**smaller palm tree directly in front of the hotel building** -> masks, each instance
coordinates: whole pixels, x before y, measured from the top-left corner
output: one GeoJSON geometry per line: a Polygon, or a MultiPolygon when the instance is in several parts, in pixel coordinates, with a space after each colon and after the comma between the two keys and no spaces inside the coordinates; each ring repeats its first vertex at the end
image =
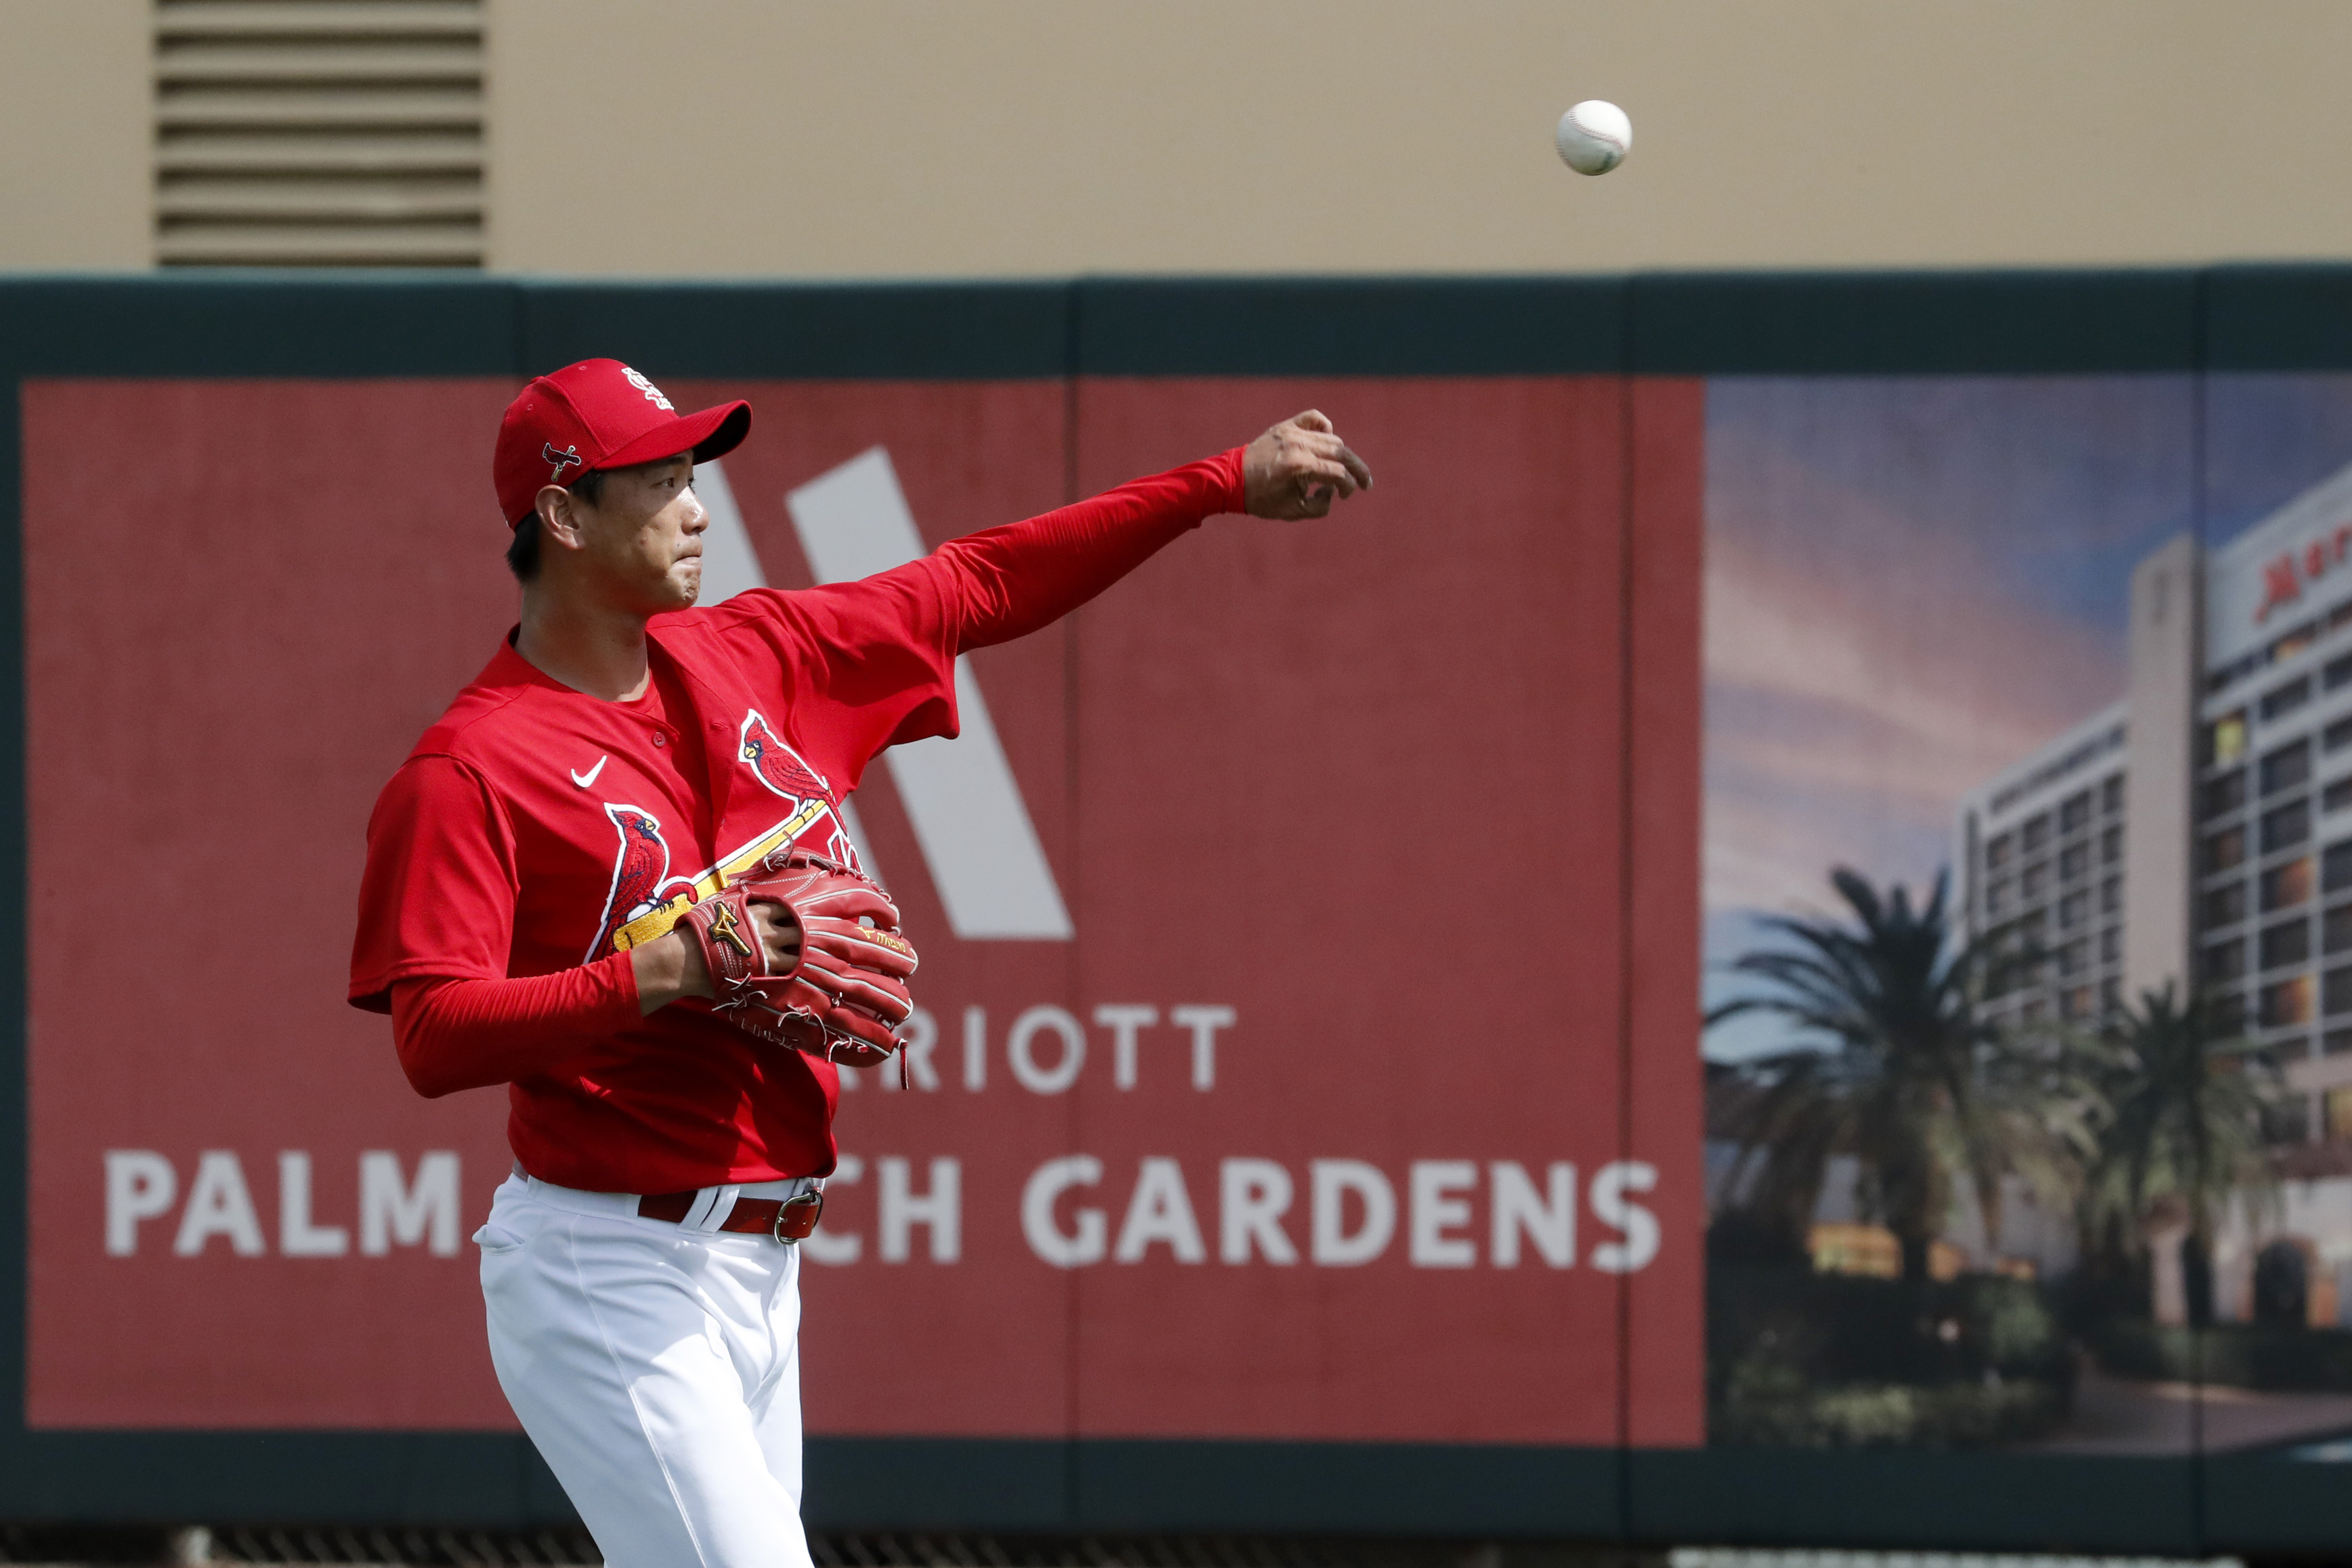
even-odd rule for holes
{"type": "Polygon", "coordinates": [[[2084,1253],[2138,1258],[2150,1211],[2166,1206],[2211,1255],[2230,1197],[2263,1201],[2277,1187],[2263,1138],[2277,1067],[2225,1027],[2211,997],[2183,999],[2171,983],[2140,992],[2110,1039],[2110,1121],[2082,1194],[2084,1253]]]}

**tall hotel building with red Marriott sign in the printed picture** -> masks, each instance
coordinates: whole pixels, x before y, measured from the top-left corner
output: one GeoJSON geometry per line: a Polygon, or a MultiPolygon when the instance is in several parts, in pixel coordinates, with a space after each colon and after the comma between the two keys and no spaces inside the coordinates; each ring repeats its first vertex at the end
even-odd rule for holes
{"type": "Polygon", "coordinates": [[[2194,980],[2279,1065],[2284,1204],[2232,1211],[2213,1260],[2244,1316],[2277,1237],[2352,1276],[2352,465],[2218,550],[2147,555],[2129,649],[2124,701],[1962,799],[1959,929],[2046,954],[1994,1023],[2194,980]]]}

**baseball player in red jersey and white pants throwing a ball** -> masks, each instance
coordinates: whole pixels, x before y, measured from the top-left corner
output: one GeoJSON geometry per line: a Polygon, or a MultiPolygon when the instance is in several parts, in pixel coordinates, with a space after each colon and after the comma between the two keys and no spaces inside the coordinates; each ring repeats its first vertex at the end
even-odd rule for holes
{"type": "Polygon", "coordinates": [[[614,360],[532,381],[494,475],[522,621],[367,825],[350,1001],[423,1095],[506,1084],[492,1363],[619,1568],[809,1568],[800,1255],[837,1060],[880,1060],[913,943],[842,799],[955,733],[955,656],[1040,630],[1218,512],[1371,484],[1322,414],[861,583],[694,609],[694,463],[614,360]]]}

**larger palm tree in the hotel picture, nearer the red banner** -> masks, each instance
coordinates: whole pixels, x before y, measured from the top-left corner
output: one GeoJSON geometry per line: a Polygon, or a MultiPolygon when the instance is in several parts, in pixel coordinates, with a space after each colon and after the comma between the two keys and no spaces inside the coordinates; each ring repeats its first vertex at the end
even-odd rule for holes
{"type": "Polygon", "coordinates": [[[1736,1067],[1724,1103],[1740,1152],[1724,1192],[1804,1237],[1830,1159],[1851,1154],[1865,1213],[1893,1232],[1903,1276],[1924,1281],[1955,1180],[1973,1187],[1997,1244],[2002,1178],[2065,1187],[2098,1100],[2063,1037],[2016,1041],[1978,1016],[1983,985],[2011,959],[1990,938],[1955,940],[1945,875],[1917,907],[1903,886],[1882,896],[1846,867],[1830,882],[1851,922],[1766,919],[1785,945],[1731,964],[1766,990],[1708,1013],[1710,1025],[1769,1013],[1809,1037],[1736,1067]]]}

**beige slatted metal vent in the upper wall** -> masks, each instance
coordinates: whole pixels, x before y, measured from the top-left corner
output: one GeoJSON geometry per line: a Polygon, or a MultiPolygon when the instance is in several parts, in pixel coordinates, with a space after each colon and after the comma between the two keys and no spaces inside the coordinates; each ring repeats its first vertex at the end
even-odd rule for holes
{"type": "Polygon", "coordinates": [[[160,266],[482,266],[482,0],[155,0],[160,266]]]}

